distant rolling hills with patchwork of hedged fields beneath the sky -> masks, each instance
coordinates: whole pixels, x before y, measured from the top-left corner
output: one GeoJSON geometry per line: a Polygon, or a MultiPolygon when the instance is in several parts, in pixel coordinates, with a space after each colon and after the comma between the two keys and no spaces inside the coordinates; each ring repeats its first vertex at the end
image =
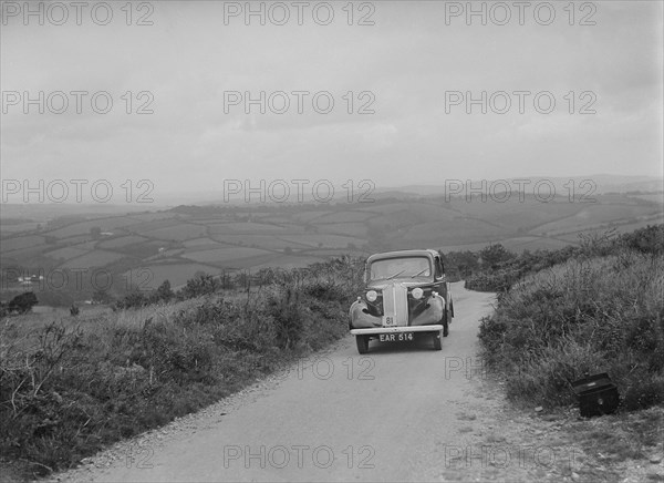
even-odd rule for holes
{"type": "Polygon", "coordinates": [[[664,210],[655,202],[661,196],[594,195],[595,203],[512,196],[497,203],[395,192],[370,204],[205,205],[116,214],[76,207],[75,215],[62,217],[40,206],[34,218],[28,206],[12,207],[12,218],[0,217],[0,265],[32,271],[96,267],[116,275],[143,268],[151,276],[142,284],[154,288],[166,279],[183,285],[200,271],[302,267],[350,253],[479,250],[492,243],[513,251],[556,249],[579,244],[581,233],[662,223],[664,210]]]}

